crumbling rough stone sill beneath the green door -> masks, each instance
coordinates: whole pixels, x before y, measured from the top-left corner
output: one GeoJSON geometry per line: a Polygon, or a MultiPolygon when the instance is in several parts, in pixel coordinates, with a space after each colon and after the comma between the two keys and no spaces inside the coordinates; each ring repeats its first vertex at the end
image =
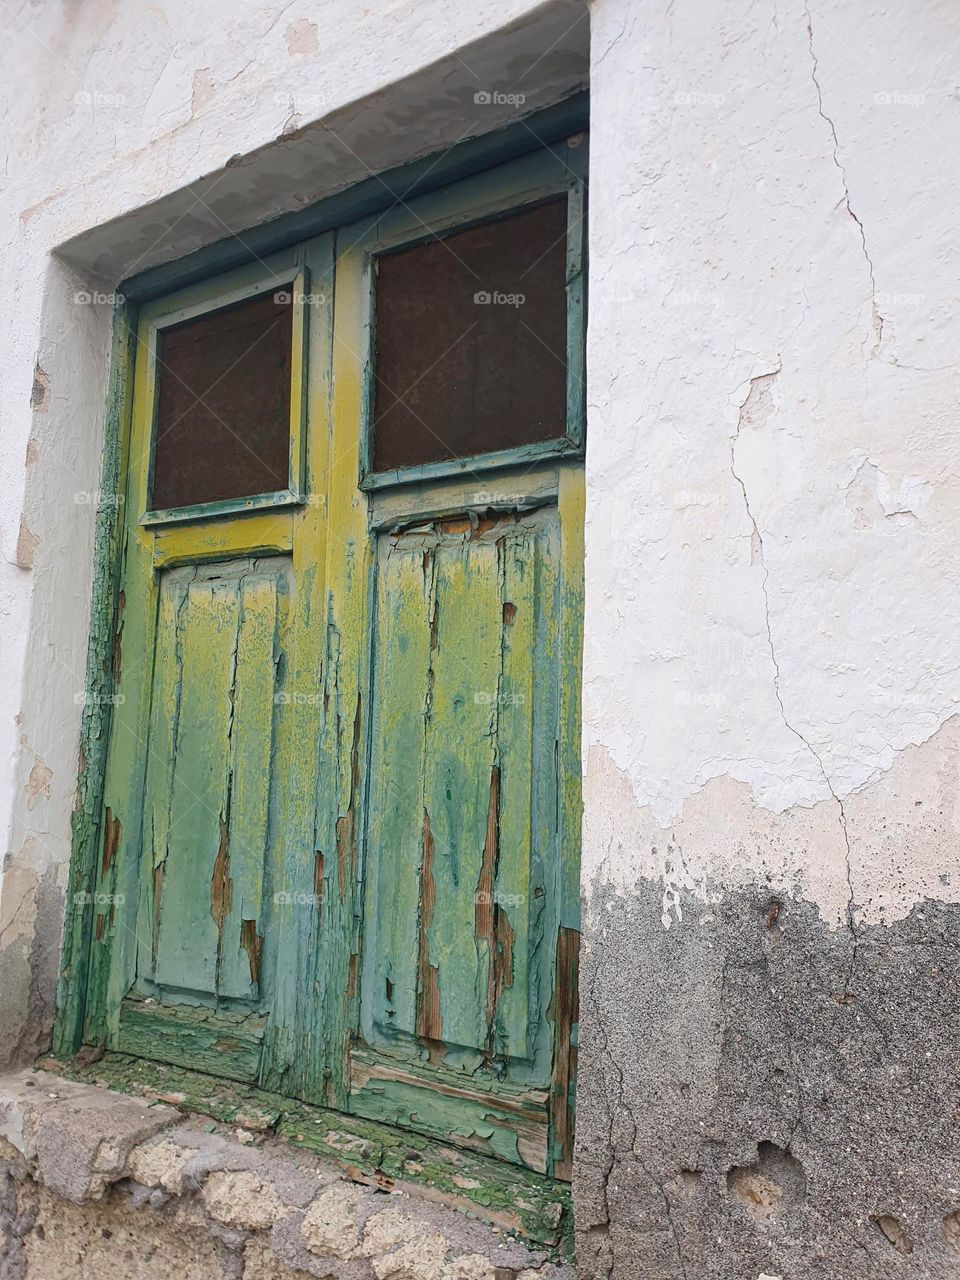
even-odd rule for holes
{"type": "Polygon", "coordinates": [[[573,1280],[280,1139],[47,1071],[0,1076],[0,1275],[573,1280]]]}

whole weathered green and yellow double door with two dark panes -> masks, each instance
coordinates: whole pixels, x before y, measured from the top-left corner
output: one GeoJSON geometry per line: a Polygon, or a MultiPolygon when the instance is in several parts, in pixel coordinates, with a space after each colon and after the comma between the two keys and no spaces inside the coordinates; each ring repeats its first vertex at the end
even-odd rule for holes
{"type": "Polygon", "coordinates": [[[87,1012],[558,1176],[584,151],[143,308],[87,1012]]]}

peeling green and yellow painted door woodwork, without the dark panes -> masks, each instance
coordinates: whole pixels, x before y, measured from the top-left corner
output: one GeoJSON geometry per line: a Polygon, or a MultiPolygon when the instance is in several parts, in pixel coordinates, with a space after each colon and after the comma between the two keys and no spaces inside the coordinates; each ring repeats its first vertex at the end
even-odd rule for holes
{"type": "MultiPolygon", "coordinates": [[[[539,157],[436,212],[577,183],[539,157]]],[[[571,1169],[582,466],[558,449],[532,497],[529,460],[498,470],[520,497],[495,512],[449,477],[360,490],[369,252],[397,216],[118,316],[109,448],[136,465],[105,461],[125,503],[97,544],[105,696],[72,872],[111,908],[68,919],[56,1044],[259,1084],[284,1116],[403,1126],[421,1167],[454,1148],[492,1162],[506,1212],[532,1171],[571,1169]],[[145,522],[151,334],[294,268],[320,300],[297,401],[307,500],[145,522]]]]}

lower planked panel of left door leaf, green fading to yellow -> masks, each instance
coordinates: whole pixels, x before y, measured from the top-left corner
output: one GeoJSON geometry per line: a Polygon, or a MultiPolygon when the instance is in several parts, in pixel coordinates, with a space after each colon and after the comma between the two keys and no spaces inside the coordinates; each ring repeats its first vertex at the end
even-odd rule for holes
{"type": "Polygon", "coordinates": [[[259,993],[288,573],[278,557],[160,580],[143,809],[152,902],[138,968],[164,987],[259,993]]]}

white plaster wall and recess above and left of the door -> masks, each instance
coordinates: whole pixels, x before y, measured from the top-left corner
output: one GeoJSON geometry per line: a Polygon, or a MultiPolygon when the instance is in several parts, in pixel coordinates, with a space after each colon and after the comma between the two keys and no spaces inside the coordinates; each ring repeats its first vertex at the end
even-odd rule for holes
{"type": "Polygon", "coordinates": [[[6,6],[0,952],[18,954],[0,1059],[37,998],[31,947],[47,964],[59,948],[37,900],[51,872],[67,883],[118,278],[516,113],[476,106],[477,90],[556,101],[584,81],[588,31],[575,0],[6,6]]]}

